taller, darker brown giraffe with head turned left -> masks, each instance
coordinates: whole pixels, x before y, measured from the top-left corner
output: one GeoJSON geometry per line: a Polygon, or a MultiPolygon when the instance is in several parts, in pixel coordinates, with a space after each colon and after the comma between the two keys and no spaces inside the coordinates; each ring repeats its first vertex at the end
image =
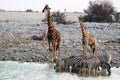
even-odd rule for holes
{"type": "Polygon", "coordinates": [[[47,33],[47,39],[49,44],[49,51],[56,52],[59,50],[60,52],[60,42],[61,42],[61,36],[60,32],[58,32],[55,29],[55,26],[52,23],[51,15],[50,15],[50,9],[48,5],[45,5],[42,12],[47,11],[47,20],[48,20],[48,33],[47,33]]]}

